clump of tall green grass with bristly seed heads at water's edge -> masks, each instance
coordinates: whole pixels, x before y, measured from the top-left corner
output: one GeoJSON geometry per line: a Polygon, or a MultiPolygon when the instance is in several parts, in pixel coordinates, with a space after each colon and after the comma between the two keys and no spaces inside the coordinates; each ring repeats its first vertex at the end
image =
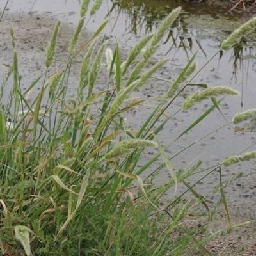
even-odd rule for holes
{"type": "MultiPolygon", "coordinates": [[[[56,58],[56,38],[61,26],[57,22],[47,47],[45,71],[26,91],[20,88],[15,28],[10,29],[13,65],[3,86],[12,74],[13,89],[8,102],[1,104],[0,112],[1,252],[8,255],[191,255],[197,248],[198,255],[211,254],[204,243],[225,231],[225,227],[203,236],[207,225],[200,228],[185,225],[184,220],[195,205],[200,205],[196,214],[207,215],[208,221],[212,220],[214,212],[205,198],[188,184],[188,179],[199,171],[204,173],[204,179],[219,170],[220,180],[214,193],[221,193],[216,207],[223,204],[230,220],[224,188],[241,173],[223,182],[221,165],[201,170],[201,161],[189,170],[175,171],[172,167],[175,156],[168,156],[166,149],[218,108],[222,98],[217,101],[215,97],[236,95],[237,92],[223,86],[207,88],[205,84],[198,84],[201,92],[191,95],[183,108],[188,109],[208,98],[212,99],[212,107],[163,148],[157,134],[173,116],[179,115],[177,111],[166,116],[164,111],[188,86],[189,77],[195,70],[195,54],[176,81],[166,81],[170,83],[170,90],[140,124],[140,129],[126,129],[123,113],[145,101],[127,99],[168,61],[161,60],[145,69],[181,8],[173,10],[158,31],[142,38],[122,62],[118,45],[115,52],[111,52],[106,49],[105,38],[99,38],[107,22],[84,45],[77,46],[85,26],[88,3],[86,0],[82,3],[81,19],[70,40],[65,68],[53,74],[49,72],[56,58]],[[99,46],[97,42],[101,42],[99,46]],[[142,49],[145,49],[143,56],[140,55],[142,49]],[[70,68],[81,52],[84,58],[76,99],[68,99],[70,68]],[[97,92],[95,84],[105,52],[109,87],[97,92]],[[139,61],[134,67],[135,60],[139,61]],[[29,102],[31,90],[40,83],[43,84],[40,92],[33,102],[29,102]],[[45,108],[42,102],[46,103],[45,108]],[[12,113],[11,118],[9,113],[12,113]],[[160,117],[164,122],[159,125],[160,117]],[[154,147],[156,153],[141,165],[140,158],[147,154],[147,147],[154,147]],[[154,169],[152,166],[160,156],[163,163],[154,169]],[[172,179],[156,187],[154,178],[164,166],[172,179]],[[141,179],[141,174],[149,168],[151,174],[141,179]],[[161,209],[161,198],[169,188],[176,191],[180,182],[188,187],[187,191],[161,209]],[[184,202],[188,191],[194,198],[184,202]]],[[[97,11],[100,3],[95,1],[91,14],[97,11]]],[[[3,97],[4,93],[1,100],[3,97]]],[[[236,158],[236,161],[252,156],[255,154],[236,158]]]]}

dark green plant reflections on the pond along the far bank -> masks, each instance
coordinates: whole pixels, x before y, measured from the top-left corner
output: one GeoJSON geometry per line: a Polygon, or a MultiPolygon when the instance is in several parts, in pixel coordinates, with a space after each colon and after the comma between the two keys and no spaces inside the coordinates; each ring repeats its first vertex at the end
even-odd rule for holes
{"type": "MultiPolygon", "coordinates": [[[[164,49],[163,55],[165,56],[171,56],[179,60],[183,58],[182,65],[186,65],[184,61],[191,58],[198,49],[200,58],[204,57],[206,60],[211,58],[216,52],[220,51],[221,42],[244,22],[244,20],[234,19],[231,16],[209,15],[209,8],[204,3],[191,5],[180,1],[153,0],[111,0],[111,2],[112,6],[107,17],[125,13],[125,15],[122,15],[122,17],[125,17],[124,33],[138,36],[156,31],[166,15],[173,8],[182,5],[183,12],[168,31],[161,48],[164,49]],[[187,10],[189,10],[189,13],[187,10]]],[[[117,25],[120,26],[118,17],[115,26],[117,25]]],[[[254,39],[252,37],[249,40],[253,41],[254,39]]],[[[250,69],[255,68],[254,64],[251,65],[255,54],[255,47],[245,39],[228,51],[228,54],[226,51],[220,51],[219,60],[214,66],[216,76],[219,72],[222,72],[218,75],[221,77],[227,77],[229,74],[227,81],[246,85],[248,80],[252,79],[250,69]],[[219,70],[219,68],[223,68],[220,62],[225,63],[224,74],[223,70],[219,70]]]]}

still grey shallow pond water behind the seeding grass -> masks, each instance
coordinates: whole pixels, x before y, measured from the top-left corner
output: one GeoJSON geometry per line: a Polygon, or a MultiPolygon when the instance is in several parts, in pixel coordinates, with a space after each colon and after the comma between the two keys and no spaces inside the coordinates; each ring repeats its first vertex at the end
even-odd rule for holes
{"type": "MultiPolygon", "coordinates": [[[[237,45],[230,51],[220,51],[221,42],[227,38],[230,33],[238,28],[245,19],[237,19],[232,16],[221,16],[214,13],[215,9],[207,7],[205,4],[188,4],[179,1],[103,1],[100,10],[88,20],[88,28],[96,31],[97,28],[109,19],[109,23],[104,29],[104,33],[113,41],[115,45],[115,37],[122,51],[129,50],[141,36],[147,35],[155,31],[161,20],[174,8],[182,4],[183,12],[177,22],[173,24],[170,31],[163,39],[163,45],[157,52],[155,58],[171,58],[167,64],[166,70],[157,76],[171,79],[177,78],[186,66],[189,59],[198,51],[196,61],[198,63],[197,70],[204,67],[199,74],[193,79],[193,83],[205,83],[208,86],[225,85],[236,88],[241,92],[238,97],[227,97],[221,103],[221,111],[228,121],[232,120],[234,114],[239,111],[245,111],[255,108],[256,95],[256,56],[255,56],[255,40],[256,35],[249,35],[243,39],[241,44],[237,45]],[[172,2],[172,3],[170,3],[172,2]],[[209,14],[211,12],[211,14],[209,14]],[[216,54],[217,53],[217,54],[216,54]],[[214,56],[216,54],[216,56],[214,56]],[[212,58],[214,56],[214,58],[212,58]],[[211,60],[212,58],[212,60],[211,60]],[[211,60],[205,66],[207,61],[211,60]]],[[[4,1],[0,2],[0,8],[3,10],[4,1]]],[[[56,17],[69,24],[77,24],[79,20],[79,1],[10,1],[8,3],[7,12],[22,11],[33,15],[38,12],[48,16],[56,17]]],[[[22,20],[20,20],[22,22],[22,20]]],[[[1,23],[0,23],[1,29],[1,23]]],[[[255,33],[256,34],[256,33],[255,33]]],[[[3,56],[0,57],[3,61],[3,56]]],[[[1,72],[1,70],[0,70],[1,72]]],[[[3,72],[3,67],[2,67],[3,72]]],[[[140,96],[150,97],[158,94],[163,95],[168,90],[168,83],[161,83],[154,86],[154,81],[150,82],[148,88],[140,92],[140,96]]],[[[184,95],[185,96],[185,95],[184,95]]],[[[180,105],[182,98],[176,104],[180,105]]],[[[161,131],[160,139],[163,145],[172,142],[174,138],[184,131],[196,118],[205,112],[212,105],[211,101],[205,101],[198,104],[189,111],[179,113],[179,116],[170,122],[163,131],[161,131]]],[[[175,106],[167,111],[172,113],[175,106]]],[[[148,112],[149,113],[149,112],[148,112]]],[[[136,116],[132,116],[129,125],[131,127],[140,126],[140,120],[145,119],[147,113],[137,111],[136,116]]],[[[221,125],[225,125],[227,121],[223,118],[219,111],[214,110],[200,125],[182,136],[177,143],[173,143],[172,147],[167,150],[169,156],[174,156],[177,152],[184,150],[191,143],[202,138],[205,134],[214,131],[221,125]]],[[[235,132],[234,125],[227,125],[220,131],[212,132],[204,140],[198,141],[193,147],[188,148],[178,156],[174,157],[172,164],[175,170],[186,168],[189,164],[195,164],[198,159],[204,161],[204,168],[214,164],[221,163],[225,157],[238,154],[247,147],[251,147],[247,151],[255,150],[256,136],[255,131],[248,131],[241,127],[243,132],[235,132]]],[[[161,163],[159,159],[156,164],[161,163]]],[[[239,171],[244,172],[241,178],[244,183],[250,186],[250,189],[241,189],[241,186],[231,186],[228,188],[230,200],[241,202],[243,198],[255,197],[255,187],[253,180],[256,180],[255,161],[250,163],[237,164],[228,169],[223,169],[223,177],[225,180],[230,179],[239,171]],[[252,188],[251,188],[252,187],[252,188]]],[[[198,175],[203,175],[202,173],[198,175]]],[[[163,170],[161,175],[157,177],[157,184],[163,184],[168,177],[167,170],[163,170]]],[[[169,179],[169,178],[168,178],[169,179]]],[[[191,184],[198,179],[198,176],[192,177],[191,184]]],[[[201,184],[196,185],[204,195],[214,187],[214,181],[218,179],[218,173],[212,173],[201,184]]],[[[241,182],[239,180],[239,182],[241,182]]]]}

